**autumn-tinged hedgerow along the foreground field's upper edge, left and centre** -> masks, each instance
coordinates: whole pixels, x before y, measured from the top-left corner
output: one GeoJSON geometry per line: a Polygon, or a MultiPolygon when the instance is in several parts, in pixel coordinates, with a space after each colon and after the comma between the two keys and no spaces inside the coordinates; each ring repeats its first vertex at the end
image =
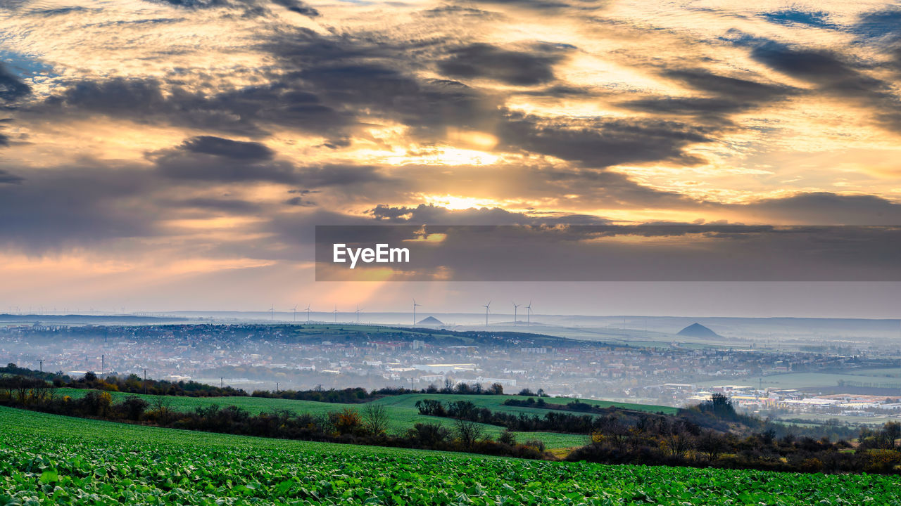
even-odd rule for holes
{"type": "Polygon", "coordinates": [[[468,420],[455,420],[452,429],[436,423],[417,423],[413,429],[390,434],[386,408],[372,403],[360,409],[347,406],[318,414],[273,410],[251,415],[236,406],[215,404],[194,411],[177,411],[171,407],[171,397],[165,395],[154,396],[150,402],[137,395],[113,402],[113,396],[105,391],[91,390],[80,398],[70,398],[56,395],[55,389],[42,380],[21,377],[0,380],[0,403],[67,416],[265,438],[555,458],[544,451],[541,442],[519,444],[508,431],[495,440],[478,423],[468,420]]]}

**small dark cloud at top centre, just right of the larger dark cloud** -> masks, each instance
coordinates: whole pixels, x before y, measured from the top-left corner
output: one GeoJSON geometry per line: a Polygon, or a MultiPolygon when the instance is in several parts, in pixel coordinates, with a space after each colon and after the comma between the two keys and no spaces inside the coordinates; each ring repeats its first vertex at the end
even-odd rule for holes
{"type": "Polygon", "coordinates": [[[451,56],[439,61],[438,68],[451,77],[478,77],[514,86],[533,86],[551,81],[553,66],[563,58],[562,51],[551,46],[514,51],[491,44],[469,44],[451,50],[451,56]]]}

